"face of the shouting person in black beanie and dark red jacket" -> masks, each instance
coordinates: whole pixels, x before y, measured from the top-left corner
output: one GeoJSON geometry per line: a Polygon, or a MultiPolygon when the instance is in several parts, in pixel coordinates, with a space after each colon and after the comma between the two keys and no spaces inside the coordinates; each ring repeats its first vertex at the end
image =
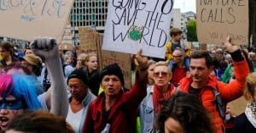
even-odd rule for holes
{"type": "Polygon", "coordinates": [[[121,81],[116,75],[104,75],[101,86],[108,97],[119,94],[119,91],[122,89],[121,81]]]}

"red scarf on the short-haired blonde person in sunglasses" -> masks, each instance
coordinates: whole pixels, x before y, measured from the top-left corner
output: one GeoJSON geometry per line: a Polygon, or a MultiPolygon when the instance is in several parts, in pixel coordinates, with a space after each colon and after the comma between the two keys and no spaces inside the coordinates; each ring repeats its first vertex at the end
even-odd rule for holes
{"type": "Polygon", "coordinates": [[[155,114],[160,113],[162,104],[165,103],[172,96],[173,89],[174,89],[174,86],[171,83],[168,85],[168,90],[166,91],[166,93],[162,94],[160,89],[154,85],[153,106],[154,106],[155,114]]]}

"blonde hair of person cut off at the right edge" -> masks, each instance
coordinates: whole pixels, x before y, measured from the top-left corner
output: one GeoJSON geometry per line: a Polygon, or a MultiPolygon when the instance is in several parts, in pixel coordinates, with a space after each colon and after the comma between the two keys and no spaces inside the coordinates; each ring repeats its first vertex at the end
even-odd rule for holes
{"type": "Polygon", "coordinates": [[[247,75],[246,86],[243,91],[243,96],[248,100],[256,100],[255,89],[256,87],[256,73],[247,75]]]}

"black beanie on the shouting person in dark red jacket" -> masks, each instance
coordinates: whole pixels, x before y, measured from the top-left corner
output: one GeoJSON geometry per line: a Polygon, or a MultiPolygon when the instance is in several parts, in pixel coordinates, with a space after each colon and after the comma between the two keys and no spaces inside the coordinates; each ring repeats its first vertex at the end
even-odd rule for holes
{"type": "Polygon", "coordinates": [[[109,64],[107,67],[102,69],[100,80],[102,82],[104,75],[116,75],[119,77],[121,84],[125,85],[124,75],[118,64],[109,64]]]}

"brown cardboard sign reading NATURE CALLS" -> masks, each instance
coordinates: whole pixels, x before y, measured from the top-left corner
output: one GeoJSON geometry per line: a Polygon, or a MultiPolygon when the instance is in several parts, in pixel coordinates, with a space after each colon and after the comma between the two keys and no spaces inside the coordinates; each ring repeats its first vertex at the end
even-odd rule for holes
{"type": "Polygon", "coordinates": [[[234,44],[247,44],[248,16],[247,0],[196,0],[199,42],[220,44],[230,35],[234,44]]]}

